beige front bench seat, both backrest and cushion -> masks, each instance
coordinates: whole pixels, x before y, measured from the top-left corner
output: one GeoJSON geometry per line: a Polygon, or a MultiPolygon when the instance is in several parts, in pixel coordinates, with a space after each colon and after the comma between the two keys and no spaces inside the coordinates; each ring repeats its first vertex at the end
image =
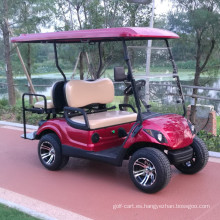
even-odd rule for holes
{"type": "MultiPolygon", "coordinates": [[[[107,104],[114,99],[114,85],[110,79],[96,81],[71,80],[65,86],[69,107],[82,108],[90,104],[107,104]]],[[[134,122],[137,114],[126,111],[106,111],[87,114],[90,129],[98,129],[118,124],[134,122]]],[[[84,124],[83,116],[75,116],[72,121],[84,124]]]]}

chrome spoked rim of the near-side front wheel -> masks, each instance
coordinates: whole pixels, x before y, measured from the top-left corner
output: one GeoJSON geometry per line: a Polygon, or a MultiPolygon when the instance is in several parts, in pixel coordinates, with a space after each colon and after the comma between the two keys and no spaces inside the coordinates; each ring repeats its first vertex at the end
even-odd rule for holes
{"type": "Polygon", "coordinates": [[[135,180],[142,186],[151,186],[157,178],[154,164],[147,158],[138,158],[133,165],[135,180]]]}

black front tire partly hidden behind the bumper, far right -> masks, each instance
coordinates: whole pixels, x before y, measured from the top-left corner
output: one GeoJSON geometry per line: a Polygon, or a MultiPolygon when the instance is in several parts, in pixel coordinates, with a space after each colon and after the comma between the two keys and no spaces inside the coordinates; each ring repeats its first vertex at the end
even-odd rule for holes
{"type": "Polygon", "coordinates": [[[193,158],[183,164],[175,165],[175,167],[185,174],[194,174],[202,170],[208,162],[209,152],[205,143],[198,138],[194,138],[192,143],[193,158]]]}

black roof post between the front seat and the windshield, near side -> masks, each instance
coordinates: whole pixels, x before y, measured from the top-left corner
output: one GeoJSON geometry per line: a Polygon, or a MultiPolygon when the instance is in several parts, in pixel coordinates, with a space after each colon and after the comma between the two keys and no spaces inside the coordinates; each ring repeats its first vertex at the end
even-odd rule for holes
{"type": "Polygon", "coordinates": [[[123,42],[123,49],[124,49],[124,59],[128,66],[128,81],[131,82],[131,86],[133,89],[135,103],[138,109],[138,120],[140,121],[140,124],[142,124],[143,119],[142,119],[142,114],[141,114],[141,104],[140,104],[140,100],[139,100],[138,93],[137,93],[136,86],[135,86],[135,79],[132,75],[131,61],[128,56],[128,48],[127,48],[127,45],[124,39],[122,40],[122,42],[123,42]]]}

